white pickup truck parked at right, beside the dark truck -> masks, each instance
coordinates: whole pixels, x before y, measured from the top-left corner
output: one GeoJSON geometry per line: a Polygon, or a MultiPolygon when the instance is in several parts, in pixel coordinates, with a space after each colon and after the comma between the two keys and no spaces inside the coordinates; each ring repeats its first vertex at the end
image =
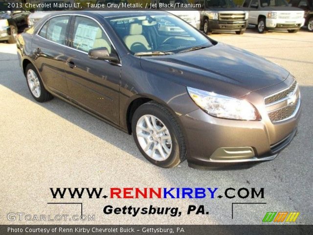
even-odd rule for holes
{"type": "Polygon", "coordinates": [[[243,7],[250,10],[248,22],[256,25],[259,33],[273,29],[296,33],[304,25],[304,11],[289,6],[286,0],[245,0],[243,7]]]}

